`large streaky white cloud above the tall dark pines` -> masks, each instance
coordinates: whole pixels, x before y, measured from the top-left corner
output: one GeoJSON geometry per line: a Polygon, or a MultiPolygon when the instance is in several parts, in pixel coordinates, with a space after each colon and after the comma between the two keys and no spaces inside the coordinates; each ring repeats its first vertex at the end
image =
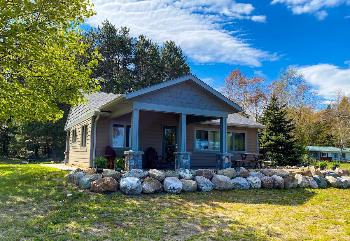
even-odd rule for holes
{"type": "Polygon", "coordinates": [[[147,35],[161,44],[173,40],[195,64],[226,63],[260,67],[262,61],[276,61],[275,53],[252,46],[242,38],[244,30],[225,30],[234,21],[265,22],[266,16],[253,15],[251,4],[231,0],[94,0],[97,14],[87,20],[98,26],[106,18],[130,28],[132,36],[147,35]]]}

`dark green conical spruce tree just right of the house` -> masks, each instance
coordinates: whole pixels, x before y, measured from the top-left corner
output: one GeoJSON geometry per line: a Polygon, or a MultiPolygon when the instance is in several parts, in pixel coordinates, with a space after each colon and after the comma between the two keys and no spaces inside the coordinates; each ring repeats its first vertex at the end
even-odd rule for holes
{"type": "Polygon", "coordinates": [[[272,161],[273,165],[296,164],[298,151],[292,135],[295,125],[287,118],[287,109],[273,94],[266,110],[262,112],[261,124],[267,129],[259,135],[259,152],[262,160],[272,161]]]}

